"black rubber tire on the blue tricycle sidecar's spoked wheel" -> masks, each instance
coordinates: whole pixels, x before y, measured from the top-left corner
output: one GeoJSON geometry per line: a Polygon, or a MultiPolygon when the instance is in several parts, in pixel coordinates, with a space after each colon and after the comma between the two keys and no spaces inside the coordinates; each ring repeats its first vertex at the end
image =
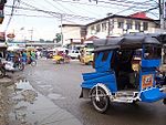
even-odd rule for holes
{"type": "MultiPolygon", "coordinates": [[[[92,94],[91,94],[92,95],[92,97],[91,97],[92,104],[98,113],[105,113],[110,107],[110,97],[106,95],[106,92],[102,87],[97,86],[97,91],[98,91],[98,94],[101,93],[104,95],[105,104],[104,104],[103,108],[98,107],[98,103],[95,101],[96,87],[92,90],[92,94]]],[[[103,98],[103,97],[101,97],[101,98],[103,98]]],[[[100,101],[101,101],[101,98],[100,98],[100,101]]],[[[100,102],[100,105],[101,105],[101,103],[102,102],[100,102]]]]}

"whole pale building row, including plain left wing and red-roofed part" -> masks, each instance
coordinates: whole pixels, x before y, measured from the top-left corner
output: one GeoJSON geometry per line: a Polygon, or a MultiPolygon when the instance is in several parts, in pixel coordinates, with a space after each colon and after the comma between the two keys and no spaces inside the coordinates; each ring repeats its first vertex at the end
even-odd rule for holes
{"type": "Polygon", "coordinates": [[[132,15],[108,15],[86,25],[63,24],[63,44],[82,43],[91,38],[121,37],[124,33],[155,33],[159,30],[157,21],[146,17],[144,12],[132,15]]]}

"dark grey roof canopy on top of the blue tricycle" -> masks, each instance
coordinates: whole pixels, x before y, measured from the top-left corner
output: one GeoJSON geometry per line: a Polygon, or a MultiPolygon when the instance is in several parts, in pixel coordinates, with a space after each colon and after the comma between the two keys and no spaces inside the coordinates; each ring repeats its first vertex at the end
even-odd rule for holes
{"type": "Polygon", "coordinates": [[[160,44],[152,35],[125,35],[120,38],[97,39],[94,40],[94,52],[114,49],[141,49],[143,44],[160,44]]]}

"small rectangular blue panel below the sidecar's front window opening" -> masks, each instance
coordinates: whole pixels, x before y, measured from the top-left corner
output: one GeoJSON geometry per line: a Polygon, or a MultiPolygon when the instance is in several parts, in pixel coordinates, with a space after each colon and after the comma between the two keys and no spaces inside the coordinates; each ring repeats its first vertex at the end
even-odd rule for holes
{"type": "Polygon", "coordinates": [[[158,67],[160,60],[142,60],[142,67],[158,67]]]}

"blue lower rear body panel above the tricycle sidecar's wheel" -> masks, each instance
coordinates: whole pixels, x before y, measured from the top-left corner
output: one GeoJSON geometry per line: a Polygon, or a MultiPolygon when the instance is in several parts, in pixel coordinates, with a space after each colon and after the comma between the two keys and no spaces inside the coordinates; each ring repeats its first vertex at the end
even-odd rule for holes
{"type": "Polygon", "coordinates": [[[97,83],[105,84],[111,90],[111,92],[117,91],[116,79],[114,73],[105,73],[105,75],[102,74],[101,76],[98,75],[97,77],[93,77],[91,80],[84,81],[81,86],[84,88],[92,88],[97,83]]]}

